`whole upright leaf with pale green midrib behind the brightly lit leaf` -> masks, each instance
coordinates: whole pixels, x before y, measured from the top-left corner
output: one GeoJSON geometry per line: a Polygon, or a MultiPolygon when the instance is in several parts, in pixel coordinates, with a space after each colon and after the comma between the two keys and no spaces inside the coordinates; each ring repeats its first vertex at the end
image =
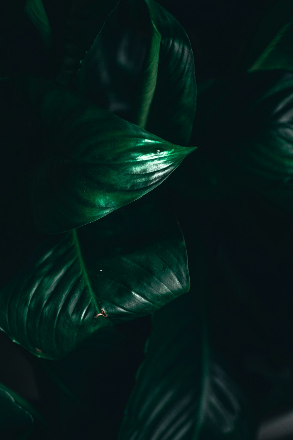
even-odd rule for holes
{"type": "Polygon", "coordinates": [[[127,110],[131,106],[135,124],[170,142],[187,145],[196,104],[188,37],[155,1],[127,4],[127,11],[121,4],[112,14],[88,51],[76,86],[96,102],[107,93],[110,110],[115,112],[122,104],[127,110]]]}

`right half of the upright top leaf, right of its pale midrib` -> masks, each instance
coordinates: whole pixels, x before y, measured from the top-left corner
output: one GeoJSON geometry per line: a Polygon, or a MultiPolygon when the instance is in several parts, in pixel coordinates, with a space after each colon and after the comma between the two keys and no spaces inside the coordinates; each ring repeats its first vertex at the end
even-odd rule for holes
{"type": "MultiPolygon", "coordinates": [[[[153,38],[149,50],[153,54],[152,59],[156,59],[159,55],[159,62],[156,89],[145,126],[148,131],[163,139],[187,145],[192,132],[196,105],[191,45],[184,29],[169,12],[153,0],[146,0],[146,4],[153,32],[160,35],[160,46],[158,54],[158,39],[153,38]]],[[[150,69],[150,62],[148,66],[150,69]]],[[[154,73],[152,77],[155,77],[154,73]]],[[[154,83],[154,80],[152,81],[154,83]]]]}

